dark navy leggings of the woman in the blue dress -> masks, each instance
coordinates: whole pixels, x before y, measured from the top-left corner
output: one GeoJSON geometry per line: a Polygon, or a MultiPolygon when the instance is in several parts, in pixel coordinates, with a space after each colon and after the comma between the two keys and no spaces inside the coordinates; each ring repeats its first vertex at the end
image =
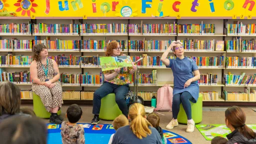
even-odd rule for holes
{"type": "Polygon", "coordinates": [[[182,103],[182,106],[186,112],[187,119],[192,119],[191,104],[190,104],[190,101],[192,99],[193,99],[192,95],[187,91],[174,94],[172,97],[172,117],[174,119],[177,119],[179,105],[180,105],[180,103],[182,103]]]}

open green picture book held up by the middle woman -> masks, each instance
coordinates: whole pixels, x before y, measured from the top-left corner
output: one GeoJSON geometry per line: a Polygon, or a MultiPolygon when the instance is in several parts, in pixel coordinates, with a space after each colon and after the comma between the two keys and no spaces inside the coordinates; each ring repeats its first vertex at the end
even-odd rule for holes
{"type": "Polygon", "coordinates": [[[102,71],[132,66],[130,56],[126,55],[100,57],[99,60],[102,71]]]}

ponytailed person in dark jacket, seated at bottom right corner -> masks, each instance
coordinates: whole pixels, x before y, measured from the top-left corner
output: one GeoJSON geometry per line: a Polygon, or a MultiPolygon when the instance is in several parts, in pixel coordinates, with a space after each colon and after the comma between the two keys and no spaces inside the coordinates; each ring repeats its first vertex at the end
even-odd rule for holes
{"type": "Polygon", "coordinates": [[[231,133],[226,135],[226,143],[256,143],[256,134],[245,124],[245,119],[244,111],[238,106],[225,110],[225,123],[231,130],[231,133]]]}

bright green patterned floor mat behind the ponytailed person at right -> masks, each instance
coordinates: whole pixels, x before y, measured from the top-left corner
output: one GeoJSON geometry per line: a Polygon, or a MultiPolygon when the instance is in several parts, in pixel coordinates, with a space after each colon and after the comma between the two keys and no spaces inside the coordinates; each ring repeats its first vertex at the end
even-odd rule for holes
{"type": "MultiPolygon", "coordinates": [[[[215,136],[226,138],[226,135],[230,133],[224,124],[196,124],[195,126],[206,140],[211,140],[215,136]]],[[[256,132],[256,124],[248,124],[247,126],[256,132]]]]}

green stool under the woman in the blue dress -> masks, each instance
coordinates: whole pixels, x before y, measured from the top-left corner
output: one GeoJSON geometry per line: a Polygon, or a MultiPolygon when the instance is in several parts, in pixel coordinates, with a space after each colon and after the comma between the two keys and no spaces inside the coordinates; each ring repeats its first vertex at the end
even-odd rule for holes
{"type": "MultiPolygon", "coordinates": [[[[200,123],[202,121],[202,94],[199,94],[198,100],[196,103],[191,102],[191,110],[192,110],[192,119],[194,120],[194,123],[200,123]]],[[[182,103],[179,105],[179,112],[177,120],[179,123],[186,124],[187,123],[187,117],[185,110],[182,106],[182,103]]]]}

